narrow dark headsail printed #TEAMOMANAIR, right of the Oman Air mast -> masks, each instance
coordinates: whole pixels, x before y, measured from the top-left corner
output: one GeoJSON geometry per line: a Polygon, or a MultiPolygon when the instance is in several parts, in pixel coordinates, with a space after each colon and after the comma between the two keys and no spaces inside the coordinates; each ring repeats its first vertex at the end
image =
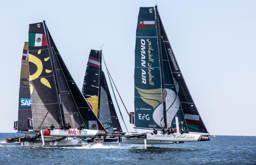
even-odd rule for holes
{"type": "Polygon", "coordinates": [[[190,95],[190,92],[185,83],[183,75],[180,71],[180,67],[179,67],[178,62],[177,62],[177,60],[174,56],[174,53],[172,51],[171,44],[170,44],[167,34],[164,30],[164,25],[161,21],[160,16],[159,16],[159,21],[160,21],[161,36],[164,39],[165,49],[168,54],[168,60],[170,63],[176,90],[178,92],[181,108],[183,110],[184,117],[185,117],[185,120],[186,120],[186,123],[188,126],[188,131],[189,132],[198,132],[198,133],[208,133],[208,131],[203,123],[203,120],[202,120],[201,116],[199,115],[196,105],[190,95]]]}

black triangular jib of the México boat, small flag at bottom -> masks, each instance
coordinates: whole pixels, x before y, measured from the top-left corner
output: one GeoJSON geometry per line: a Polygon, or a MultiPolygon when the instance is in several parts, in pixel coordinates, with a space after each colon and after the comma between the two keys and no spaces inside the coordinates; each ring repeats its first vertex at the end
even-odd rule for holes
{"type": "Polygon", "coordinates": [[[68,68],[66,67],[62,57],[60,56],[60,53],[59,53],[50,33],[49,33],[49,37],[51,40],[52,47],[55,51],[57,60],[60,64],[60,68],[62,69],[63,75],[66,79],[69,90],[73,96],[73,100],[75,101],[76,107],[78,108],[78,111],[80,112],[82,120],[84,121],[86,129],[100,130],[100,131],[102,131],[100,133],[106,133],[107,131],[104,129],[100,120],[97,118],[97,116],[94,114],[94,112],[92,111],[90,106],[87,104],[86,100],[84,99],[83,94],[80,92],[74,79],[72,78],[71,74],[69,73],[68,68]]]}

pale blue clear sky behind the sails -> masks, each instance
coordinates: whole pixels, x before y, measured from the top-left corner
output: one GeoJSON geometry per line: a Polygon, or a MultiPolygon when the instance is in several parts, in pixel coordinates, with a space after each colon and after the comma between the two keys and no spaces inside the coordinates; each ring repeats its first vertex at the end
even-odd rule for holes
{"type": "MultiPolygon", "coordinates": [[[[190,93],[211,134],[256,135],[256,1],[162,1],[158,10],[190,93]]],[[[90,49],[99,49],[133,111],[134,48],[141,1],[4,1],[0,132],[15,132],[19,76],[28,24],[46,20],[79,88],[90,49]]],[[[128,121],[128,118],[126,118],[128,121]]]]}

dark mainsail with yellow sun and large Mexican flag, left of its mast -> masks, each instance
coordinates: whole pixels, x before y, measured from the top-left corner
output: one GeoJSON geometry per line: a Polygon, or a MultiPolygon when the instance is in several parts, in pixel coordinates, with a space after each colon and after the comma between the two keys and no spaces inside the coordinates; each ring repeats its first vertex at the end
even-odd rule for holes
{"type": "Polygon", "coordinates": [[[28,66],[31,109],[35,130],[62,121],[52,62],[42,22],[29,25],[28,66]]]}

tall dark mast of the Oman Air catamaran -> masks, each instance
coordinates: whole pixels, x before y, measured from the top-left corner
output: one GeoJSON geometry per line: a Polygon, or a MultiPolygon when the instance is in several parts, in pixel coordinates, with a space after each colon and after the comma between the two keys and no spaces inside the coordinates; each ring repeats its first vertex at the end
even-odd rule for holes
{"type": "Polygon", "coordinates": [[[167,128],[165,90],[164,90],[164,69],[163,69],[162,46],[161,46],[160,25],[159,25],[159,15],[157,10],[157,5],[155,6],[155,9],[156,9],[155,10],[156,11],[156,32],[157,32],[158,51],[159,51],[160,73],[161,73],[162,99],[163,99],[163,107],[164,107],[164,128],[167,128]]]}

